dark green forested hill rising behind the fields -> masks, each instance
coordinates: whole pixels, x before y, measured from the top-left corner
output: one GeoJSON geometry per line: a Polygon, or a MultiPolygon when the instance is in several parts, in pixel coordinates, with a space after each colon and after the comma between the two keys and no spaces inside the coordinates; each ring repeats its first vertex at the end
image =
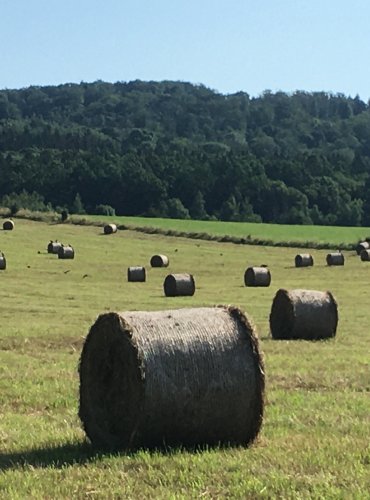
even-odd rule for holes
{"type": "Polygon", "coordinates": [[[369,225],[369,187],[370,109],[358,97],[171,81],[0,91],[2,204],[369,225]]]}

